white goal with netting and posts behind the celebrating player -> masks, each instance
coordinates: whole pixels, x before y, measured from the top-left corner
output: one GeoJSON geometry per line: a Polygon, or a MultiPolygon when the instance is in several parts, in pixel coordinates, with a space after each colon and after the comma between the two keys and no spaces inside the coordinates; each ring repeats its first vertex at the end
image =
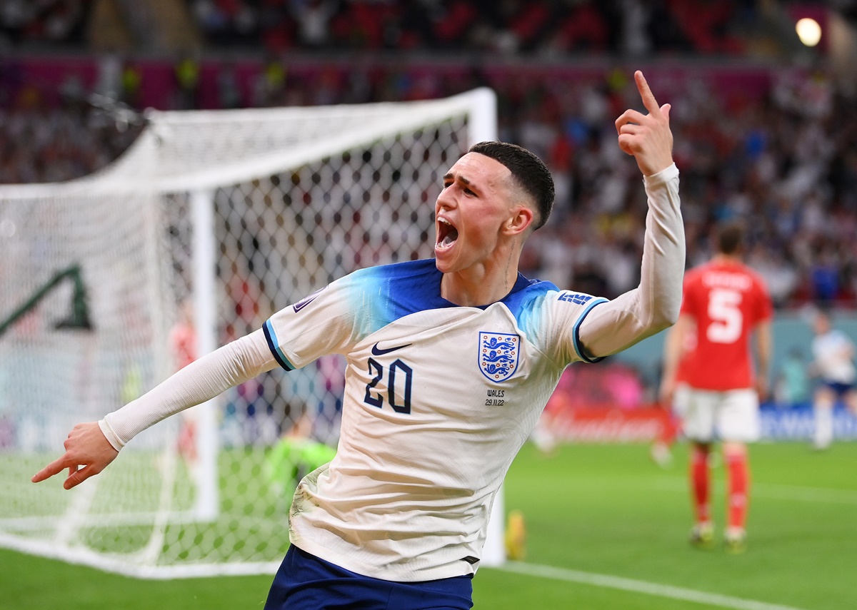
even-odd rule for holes
{"type": "MultiPolygon", "coordinates": [[[[344,362],[275,370],[153,426],[70,491],[29,481],[196,355],[363,266],[432,255],[440,176],[494,94],[151,112],[80,180],[0,187],[0,546],[138,577],[273,573],[302,464],[335,447],[344,362]]],[[[503,558],[501,503],[485,563],[503,558]]]]}

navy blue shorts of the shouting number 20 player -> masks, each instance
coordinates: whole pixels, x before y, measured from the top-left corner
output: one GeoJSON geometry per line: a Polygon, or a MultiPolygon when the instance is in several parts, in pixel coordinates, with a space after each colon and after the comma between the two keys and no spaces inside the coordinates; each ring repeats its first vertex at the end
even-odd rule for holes
{"type": "Polygon", "coordinates": [[[471,575],[394,583],[344,570],[291,545],[265,610],[470,610],[471,575]]]}

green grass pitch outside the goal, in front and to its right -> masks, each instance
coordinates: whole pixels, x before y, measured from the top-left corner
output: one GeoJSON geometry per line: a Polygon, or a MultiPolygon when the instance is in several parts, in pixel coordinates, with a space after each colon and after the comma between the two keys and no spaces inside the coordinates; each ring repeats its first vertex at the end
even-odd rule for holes
{"type": "MultiPolygon", "coordinates": [[[[668,470],[651,463],[639,445],[564,446],[550,458],[524,447],[506,479],[505,502],[506,510],[524,513],[525,567],[566,571],[538,576],[482,568],[475,607],[674,610],[764,602],[857,608],[857,444],[821,453],[800,444],[754,446],[750,544],[739,556],[719,545],[700,551],[687,544],[685,460],[683,446],[668,470]],[[632,579],[632,589],[668,585],[729,599],[706,604],[561,579],[581,574],[632,579]]],[[[716,468],[718,523],[723,486],[723,470],[716,468]]],[[[0,565],[0,607],[9,610],[261,608],[271,580],[137,580],[6,550],[0,565]]]]}

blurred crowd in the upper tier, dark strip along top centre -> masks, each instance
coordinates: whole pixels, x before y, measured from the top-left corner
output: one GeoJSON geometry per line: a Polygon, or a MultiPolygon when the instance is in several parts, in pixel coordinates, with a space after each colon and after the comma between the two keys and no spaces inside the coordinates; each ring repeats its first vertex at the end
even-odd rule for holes
{"type": "Polygon", "coordinates": [[[752,0],[188,0],[217,45],[542,54],[741,50],[752,0]],[[693,16],[689,19],[690,15],[693,16]],[[618,26],[618,27],[617,27],[618,26]]]}

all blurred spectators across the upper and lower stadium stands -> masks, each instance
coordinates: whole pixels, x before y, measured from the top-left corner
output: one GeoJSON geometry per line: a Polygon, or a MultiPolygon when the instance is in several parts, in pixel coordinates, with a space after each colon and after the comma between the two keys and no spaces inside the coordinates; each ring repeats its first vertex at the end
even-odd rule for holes
{"type": "MultiPolygon", "coordinates": [[[[3,36],[71,36],[80,28],[67,25],[69,15],[83,14],[87,4],[9,0],[0,10],[3,36]],[[34,7],[45,9],[41,21],[34,7]],[[54,21],[66,25],[51,25],[54,21]]],[[[656,45],[658,51],[728,53],[740,51],[734,26],[752,18],[754,5],[189,0],[210,40],[224,45],[242,36],[262,40],[267,60],[250,70],[252,78],[239,78],[228,61],[207,68],[204,56],[183,57],[171,66],[168,84],[158,87],[170,89],[162,109],[368,103],[493,87],[500,138],[544,158],[557,185],[554,217],[540,238],[531,240],[525,271],[560,287],[615,296],[638,281],[646,209],[638,170],[615,145],[614,118],[638,105],[630,63],[580,81],[563,78],[561,68],[542,69],[537,61],[486,68],[456,65],[448,57],[434,68],[431,63],[416,68],[340,55],[301,72],[291,69],[287,54],[272,50],[323,45],[340,52],[392,46],[644,53],[656,45]],[[686,19],[691,10],[695,19],[686,19]],[[614,22],[623,26],[612,27],[614,22]],[[268,39],[273,35],[285,38],[273,44],[268,39]]],[[[51,94],[44,84],[27,81],[20,66],[15,71],[0,64],[0,182],[86,175],[116,158],[141,129],[117,120],[117,108],[141,109],[141,91],[147,90],[134,62],[112,63],[112,86],[103,79],[87,85],[71,76],[52,82],[51,94]],[[114,95],[118,105],[112,111],[97,108],[93,93],[114,95]]],[[[824,69],[771,70],[758,91],[746,95],[724,93],[704,70],[676,83],[670,84],[668,70],[662,70],[652,87],[662,103],[673,106],[688,266],[711,254],[716,222],[743,218],[751,243],[748,262],[767,279],[778,307],[806,302],[857,307],[854,91],[824,69]]]]}

